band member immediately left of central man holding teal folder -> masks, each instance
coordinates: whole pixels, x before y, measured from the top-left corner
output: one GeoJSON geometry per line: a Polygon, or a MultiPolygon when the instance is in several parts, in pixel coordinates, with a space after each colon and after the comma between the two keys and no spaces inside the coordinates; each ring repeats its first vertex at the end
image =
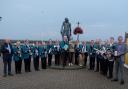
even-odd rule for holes
{"type": "Polygon", "coordinates": [[[56,41],[54,45],[54,55],[55,55],[55,65],[59,66],[60,64],[60,43],[56,41]]]}

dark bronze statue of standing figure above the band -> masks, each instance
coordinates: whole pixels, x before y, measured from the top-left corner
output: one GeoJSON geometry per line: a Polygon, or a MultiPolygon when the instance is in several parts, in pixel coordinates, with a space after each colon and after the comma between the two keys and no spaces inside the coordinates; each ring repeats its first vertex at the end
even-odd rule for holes
{"type": "Polygon", "coordinates": [[[70,41],[70,37],[71,37],[71,24],[70,24],[68,18],[65,18],[65,21],[62,24],[61,35],[62,35],[62,39],[63,40],[64,40],[64,36],[67,36],[68,41],[70,41]]]}

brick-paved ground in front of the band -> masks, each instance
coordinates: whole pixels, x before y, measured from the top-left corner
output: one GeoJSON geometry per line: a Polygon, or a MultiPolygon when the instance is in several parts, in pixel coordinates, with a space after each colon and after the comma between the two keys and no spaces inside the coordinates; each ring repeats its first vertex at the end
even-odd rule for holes
{"type": "MultiPolygon", "coordinates": [[[[40,70],[22,72],[13,77],[2,77],[3,64],[0,61],[0,89],[128,89],[128,70],[125,69],[125,85],[111,82],[104,76],[88,69],[40,70]]],[[[14,66],[12,68],[14,73],[14,66]]],[[[24,71],[24,69],[23,69],[24,71]]]]}

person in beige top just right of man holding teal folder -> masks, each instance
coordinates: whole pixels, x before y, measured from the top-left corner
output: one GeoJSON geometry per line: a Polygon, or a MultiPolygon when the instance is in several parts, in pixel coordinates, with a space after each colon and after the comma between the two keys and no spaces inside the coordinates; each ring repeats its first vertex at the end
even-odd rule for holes
{"type": "Polygon", "coordinates": [[[69,66],[72,66],[72,62],[73,62],[73,55],[74,55],[74,44],[72,43],[72,41],[69,41],[69,66]]]}

